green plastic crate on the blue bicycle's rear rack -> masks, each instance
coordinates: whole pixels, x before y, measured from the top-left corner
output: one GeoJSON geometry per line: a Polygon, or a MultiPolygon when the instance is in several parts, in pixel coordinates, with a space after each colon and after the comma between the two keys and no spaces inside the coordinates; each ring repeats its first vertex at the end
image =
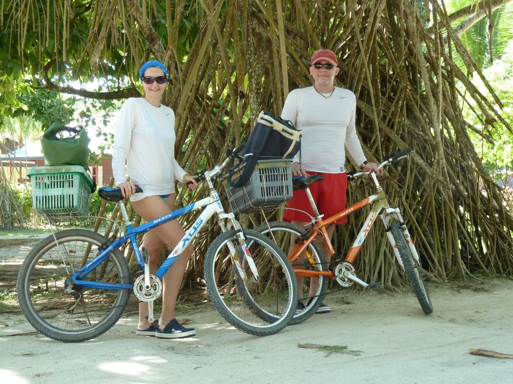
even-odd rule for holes
{"type": "Polygon", "coordinates": [[[34,210],[51,218],[89,215],[93,181],[81,165],[29,168],[34,210]]]}

